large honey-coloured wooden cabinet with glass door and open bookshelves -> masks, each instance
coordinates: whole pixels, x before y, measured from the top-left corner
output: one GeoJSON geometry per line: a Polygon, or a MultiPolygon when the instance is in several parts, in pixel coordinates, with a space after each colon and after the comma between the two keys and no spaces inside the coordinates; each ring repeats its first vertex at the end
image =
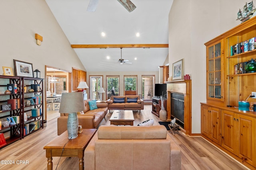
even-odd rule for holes
{"type": "Polygon", "coordinates": [[[209,108],[219,109],[221,141],[209,141],[248,168],[256,169],[256,112],[252,109],[256,99],[248,98],[252,92],[256,92],[256,72],[245,70],[246,64],[256,59],[256,17],[244,21],[205,45],[207,100],[201,103],[202,136],[211,138],[211,127],[207,126],[212,124],[209,108]],[[238,101],[246,99],[250,102],[250,111],[239,110],[238,101]]]}

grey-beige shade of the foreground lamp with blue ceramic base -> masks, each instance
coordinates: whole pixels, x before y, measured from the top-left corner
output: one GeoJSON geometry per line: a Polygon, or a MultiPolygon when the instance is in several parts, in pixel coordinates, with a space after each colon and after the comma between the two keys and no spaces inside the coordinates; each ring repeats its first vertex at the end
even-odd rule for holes
{"type": "Polygon", "coordinates": [[[85,109],[82,92],[62,93],[60,113],[74,113],[85,109]]]}

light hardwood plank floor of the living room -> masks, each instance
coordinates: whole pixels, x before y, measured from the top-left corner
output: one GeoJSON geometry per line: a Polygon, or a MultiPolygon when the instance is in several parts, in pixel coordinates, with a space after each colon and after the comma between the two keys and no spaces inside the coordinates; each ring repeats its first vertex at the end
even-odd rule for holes
{"type": "MultiPolygon", "coordinates": [[[[145,105],[141,113],[134,111],[134,125],[148,119],[154,119],[154,125],[159,125],[160,119],[151,113],[151,109],[151,105],[145,105]]],[[[52,120],[47,121],[47,126],[43,129],[0,149],[0,160],[14,161],[14,164],[0,164],[0,170],[47,170],[47,158],[43,147],[57,136],[57,118],[54,118],[54,115],[58,117],[59,113],[52,113],[52,120]]],[[[112,112],[108,113],[101,125],[110,125],[111,115],[112,112]]],[[[168,134],[180,147],[182,170],[247,169],[202,137],[189,137],[183,133],[168,134]]],[[[78,158],[53,157],[53,169],[56,169],[57,164],[57,170],[77,170],[78,158]]]]}

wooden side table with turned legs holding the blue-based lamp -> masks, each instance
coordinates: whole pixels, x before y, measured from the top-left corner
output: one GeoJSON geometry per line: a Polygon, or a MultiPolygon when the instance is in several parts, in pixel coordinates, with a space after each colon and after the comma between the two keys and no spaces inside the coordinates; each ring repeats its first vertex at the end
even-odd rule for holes
{"type": "Polygon", "coordinates": [[[65,131],[44,147],[46,150],[46,158],[48,158],[48,170],[52,170],[52,156],[78,156],[79,170],[84,170],[84,150],[91,141],[93,135],[96,133],[97,129],[82,130],[82,133],[78,133],[78,137],[75,139],[68,139],[68,131],[65,131]]]}

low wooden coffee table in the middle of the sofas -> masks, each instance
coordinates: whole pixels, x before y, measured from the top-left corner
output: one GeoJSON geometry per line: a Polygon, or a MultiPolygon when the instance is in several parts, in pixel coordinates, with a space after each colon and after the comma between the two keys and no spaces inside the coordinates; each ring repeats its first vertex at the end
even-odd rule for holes
{"type": "Polygon", "coordinates": [[[110,125],[131,125],[133,126],[132,110],[115,110],[110,117],[110,125]]]}

